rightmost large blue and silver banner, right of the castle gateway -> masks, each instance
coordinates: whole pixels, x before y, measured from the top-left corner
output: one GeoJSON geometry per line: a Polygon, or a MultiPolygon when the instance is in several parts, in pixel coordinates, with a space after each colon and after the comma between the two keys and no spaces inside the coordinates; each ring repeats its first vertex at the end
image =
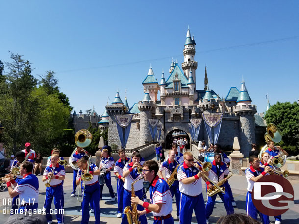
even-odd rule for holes
{"type": "Polygon", "coordinates": [[[216,144],[220,133],[223,114],[222,113],[202,114],[202,117],[211,143],[216,144]]]}

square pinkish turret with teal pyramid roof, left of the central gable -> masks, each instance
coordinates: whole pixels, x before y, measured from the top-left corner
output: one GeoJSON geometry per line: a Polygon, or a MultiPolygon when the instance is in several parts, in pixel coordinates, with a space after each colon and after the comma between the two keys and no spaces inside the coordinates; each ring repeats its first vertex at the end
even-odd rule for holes
{"type": "Polygon", "coordinates": [[[143,85],[144,92],[149,93],[151,100],[156,102],[157,101],[158,90],[160,88],[159,88],[158,81],[155,78],[155,75],[153,73],[151,65],[150,65],[150,68],[149,68],[148,75],[143,80],[142,85],[143,85]]]}

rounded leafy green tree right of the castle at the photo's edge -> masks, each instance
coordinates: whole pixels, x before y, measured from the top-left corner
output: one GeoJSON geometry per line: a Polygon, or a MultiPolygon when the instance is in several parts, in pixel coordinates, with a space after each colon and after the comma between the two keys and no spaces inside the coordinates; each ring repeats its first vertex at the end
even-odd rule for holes
{"type": "Polygon", "coordinates": [[[265,115],[267,124],[274,123],[282,134],[280,145],[291,155],[299,154],[299,104],[294,102],[272,105],[265,115]]]}

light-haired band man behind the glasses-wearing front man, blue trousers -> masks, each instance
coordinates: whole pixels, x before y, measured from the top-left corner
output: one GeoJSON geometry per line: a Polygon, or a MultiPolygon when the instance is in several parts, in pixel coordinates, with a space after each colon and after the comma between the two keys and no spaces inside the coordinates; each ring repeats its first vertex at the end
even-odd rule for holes
{"type": "MultiPolygon", "coordinates": [[[[174,150],[169,150],[168,152],[168,160],[163,162],[159,169],[159,176],[160,178],[165,177],[165,180],[167,180],[170,175],[174,172],[176,166],[178,166],[179,163],[175,160],[175,152],[174,150]],[[163,175],[164,173],[164,175],[163,175]]],[[[178,189],[178,180],[175,180],[174,183],[170,187],[170,192],[172,195],[172,198],[175,195],[175,201],[176,201],[176,215],[177,218],[179,218],[179,202],[180,202],[180,192],[178,189]]]]}

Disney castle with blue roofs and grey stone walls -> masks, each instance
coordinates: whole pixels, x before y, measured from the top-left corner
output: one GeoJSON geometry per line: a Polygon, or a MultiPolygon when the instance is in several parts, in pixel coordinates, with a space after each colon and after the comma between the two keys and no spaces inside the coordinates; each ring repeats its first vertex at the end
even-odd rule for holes
{"type": "MultiPolygon", "coordinates": [[[[202,78],[196,79],[201,74],[197,72],[196,43],[189,29],[182,48],[184,61],[179,64],[172,60],[169,73],[163,72],[160,81],[156,79],[153,68],[149,68],[144,80],[140,80],[144,92],[140,101],[129,106],[126,97],[123,102],[117,92],[114,101],[107,104],[99,127],[109,127],[109,144],[121,146],[115,115],[131,114],[126,149],[153,141],[149,120],[155,119],[162,126],[160,142],[166,149],[171,147],[174,136],[186,137],[189,142],[217,142],[224,148],[231,148],[237,136],[241,152],[248,156],[251,143],[260,141],[256,136],[265,132],[265,121],[256,114],[256,106],[252,104],[245,82],[236,83],[239,88],[231,87],[226,96],[219,96],[208,85],[206,67],[202,78]],[[196,80],[203,82],[197,85],[196,80]],[[192,128],[190,123],[194,121],[192,128]],[[194,139],[195,133],[197,139],[194,139]]],[[[264,144],[264,140],[261,144],[264,144]]]]}

